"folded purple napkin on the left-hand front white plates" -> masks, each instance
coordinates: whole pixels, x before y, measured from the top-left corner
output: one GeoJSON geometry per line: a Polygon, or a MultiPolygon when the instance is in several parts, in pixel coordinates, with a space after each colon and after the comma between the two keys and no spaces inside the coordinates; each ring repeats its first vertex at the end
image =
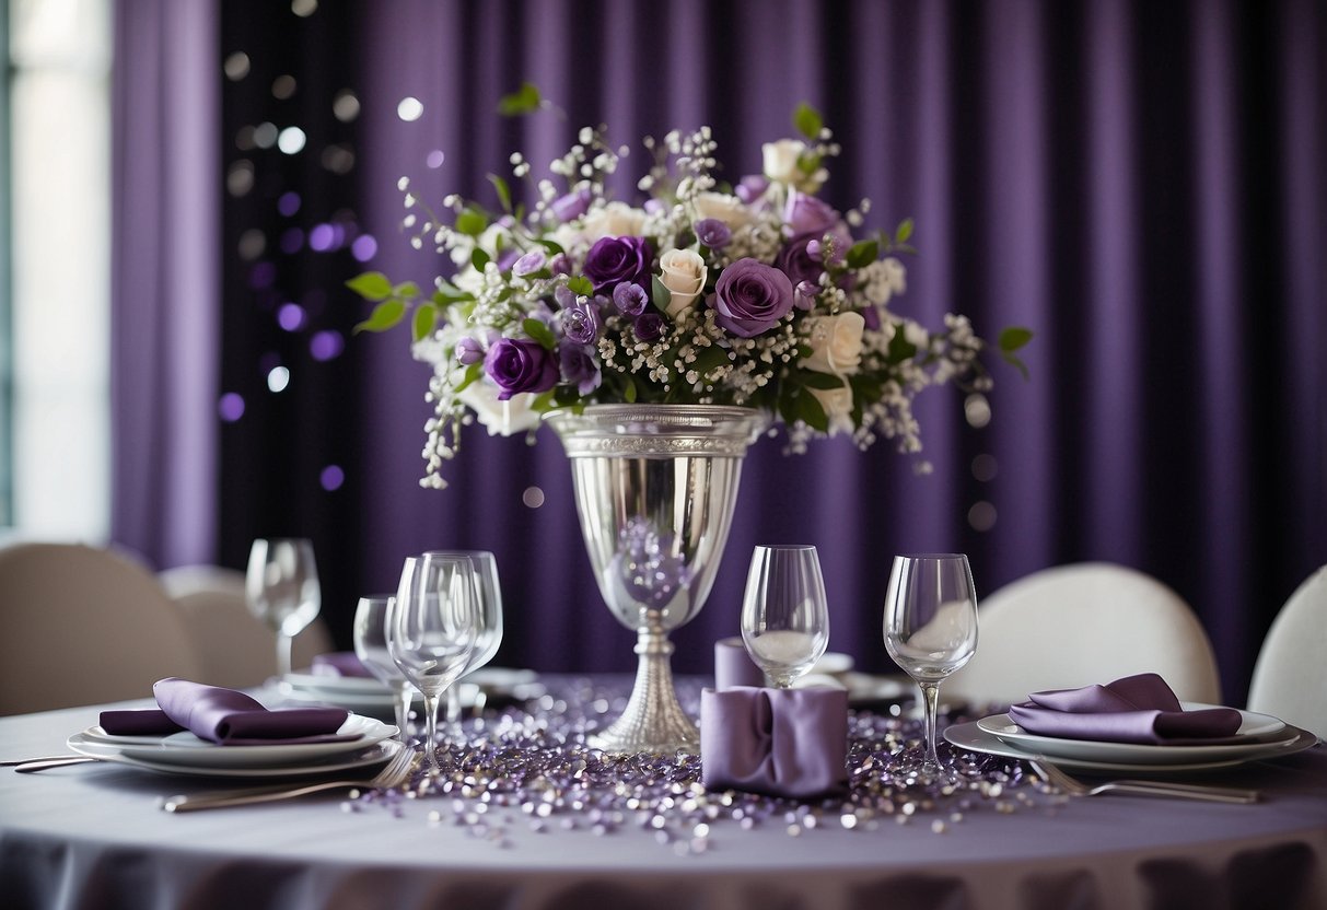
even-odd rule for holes
{"type": "Polygon", "coordinates": [[[338,734],[342,708],[268,711],[244,692],[170,677],[153,686],[158,708],[102,711],[101,728],[113,736],[150,736],[188,730],[220,746],[292,746],[358,739],[338,734]]]}

